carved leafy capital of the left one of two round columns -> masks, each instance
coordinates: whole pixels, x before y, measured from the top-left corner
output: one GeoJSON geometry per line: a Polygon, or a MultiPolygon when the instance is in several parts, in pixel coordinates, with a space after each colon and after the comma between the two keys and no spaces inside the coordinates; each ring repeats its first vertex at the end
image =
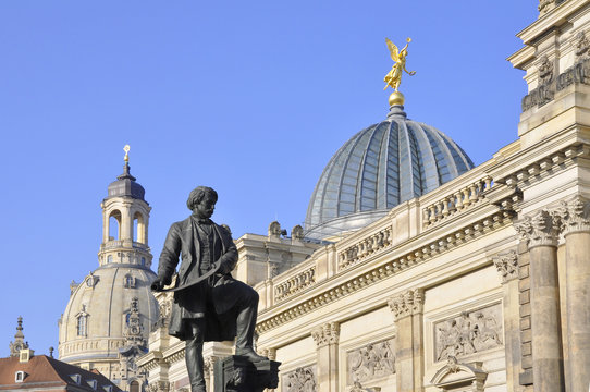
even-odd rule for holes
{"type": "Polygon", "coordinates": [[[514,223],[514,229],[520,238],[528,243],[528,247],[557,246],[560,235],[560,218],[555,211],[546,209],[525,216],[524,219],[514,223]]]}

